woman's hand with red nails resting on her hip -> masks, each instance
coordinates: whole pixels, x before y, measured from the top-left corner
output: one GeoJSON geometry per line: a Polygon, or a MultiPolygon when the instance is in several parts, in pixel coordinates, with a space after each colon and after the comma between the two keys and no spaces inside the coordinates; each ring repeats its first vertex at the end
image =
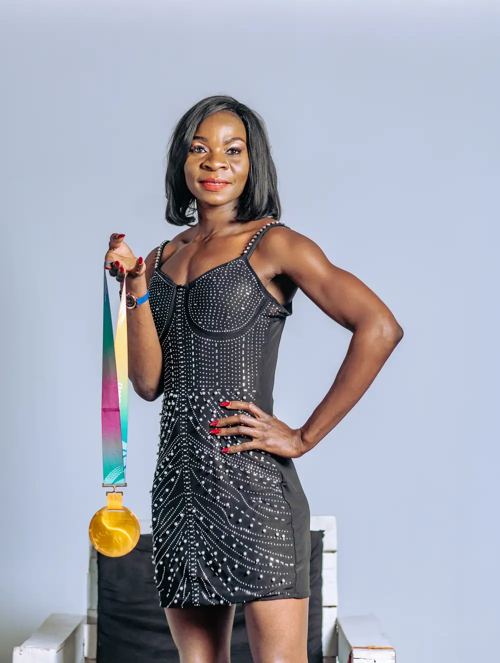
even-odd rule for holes
{"type": "Polygon", "coordinates": [[[251,442],[242,442],[228,446],[221,451],[225,453],[246,452],[252,449],[275,453],[285,458],[299,458],[307,448],[302,440],[300,428],[290,428],[276,416],[271,416],[254,403],[244,400],[231,400],[221,406],[228,410],[245,410],[249,414],[233,414],[211,422],[211,433],[215,435],[246,435],[253,438],[251,442]],[[251,415],[251,416],[250,416],[251,415]]]}

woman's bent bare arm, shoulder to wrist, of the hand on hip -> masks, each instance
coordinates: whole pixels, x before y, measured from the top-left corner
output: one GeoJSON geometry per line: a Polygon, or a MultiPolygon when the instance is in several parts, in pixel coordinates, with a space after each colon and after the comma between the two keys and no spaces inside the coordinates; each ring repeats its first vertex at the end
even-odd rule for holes
{"type": "Polygon", "coordinates": [[[360,400],[403,337],[403,329],[370,288],[332,265],[311,239],[288,228],[276,228],[268,235],[266,253],[275,274],[289,276],[326,315],[353,332],[334,383],[301,426],[307,451],[360,400]]]}

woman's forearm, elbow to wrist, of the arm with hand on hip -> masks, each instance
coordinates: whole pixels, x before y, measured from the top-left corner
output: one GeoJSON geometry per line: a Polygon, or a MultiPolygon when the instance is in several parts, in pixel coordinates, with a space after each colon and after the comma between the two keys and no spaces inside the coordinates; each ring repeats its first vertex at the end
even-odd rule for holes
{"type": "Polygon", "coordinates": [[[352,410],[402,337],[403,330],[397,323],[366,324],[354,331],[334,383],[300,428],[306,451],[323,440],[352,410]]]}

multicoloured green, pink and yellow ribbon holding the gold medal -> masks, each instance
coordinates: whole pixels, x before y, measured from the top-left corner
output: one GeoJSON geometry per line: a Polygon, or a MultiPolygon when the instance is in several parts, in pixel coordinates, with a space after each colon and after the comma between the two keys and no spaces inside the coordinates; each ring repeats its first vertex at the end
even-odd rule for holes
{"type": "Polygon", "coordinates": [[[111,304],[104,271],[103,306],[103,428],[104,485],[125,484],[126,438],[128,432],[128,349],[126,339],[125,280],[113,341],[111,304]]]}

